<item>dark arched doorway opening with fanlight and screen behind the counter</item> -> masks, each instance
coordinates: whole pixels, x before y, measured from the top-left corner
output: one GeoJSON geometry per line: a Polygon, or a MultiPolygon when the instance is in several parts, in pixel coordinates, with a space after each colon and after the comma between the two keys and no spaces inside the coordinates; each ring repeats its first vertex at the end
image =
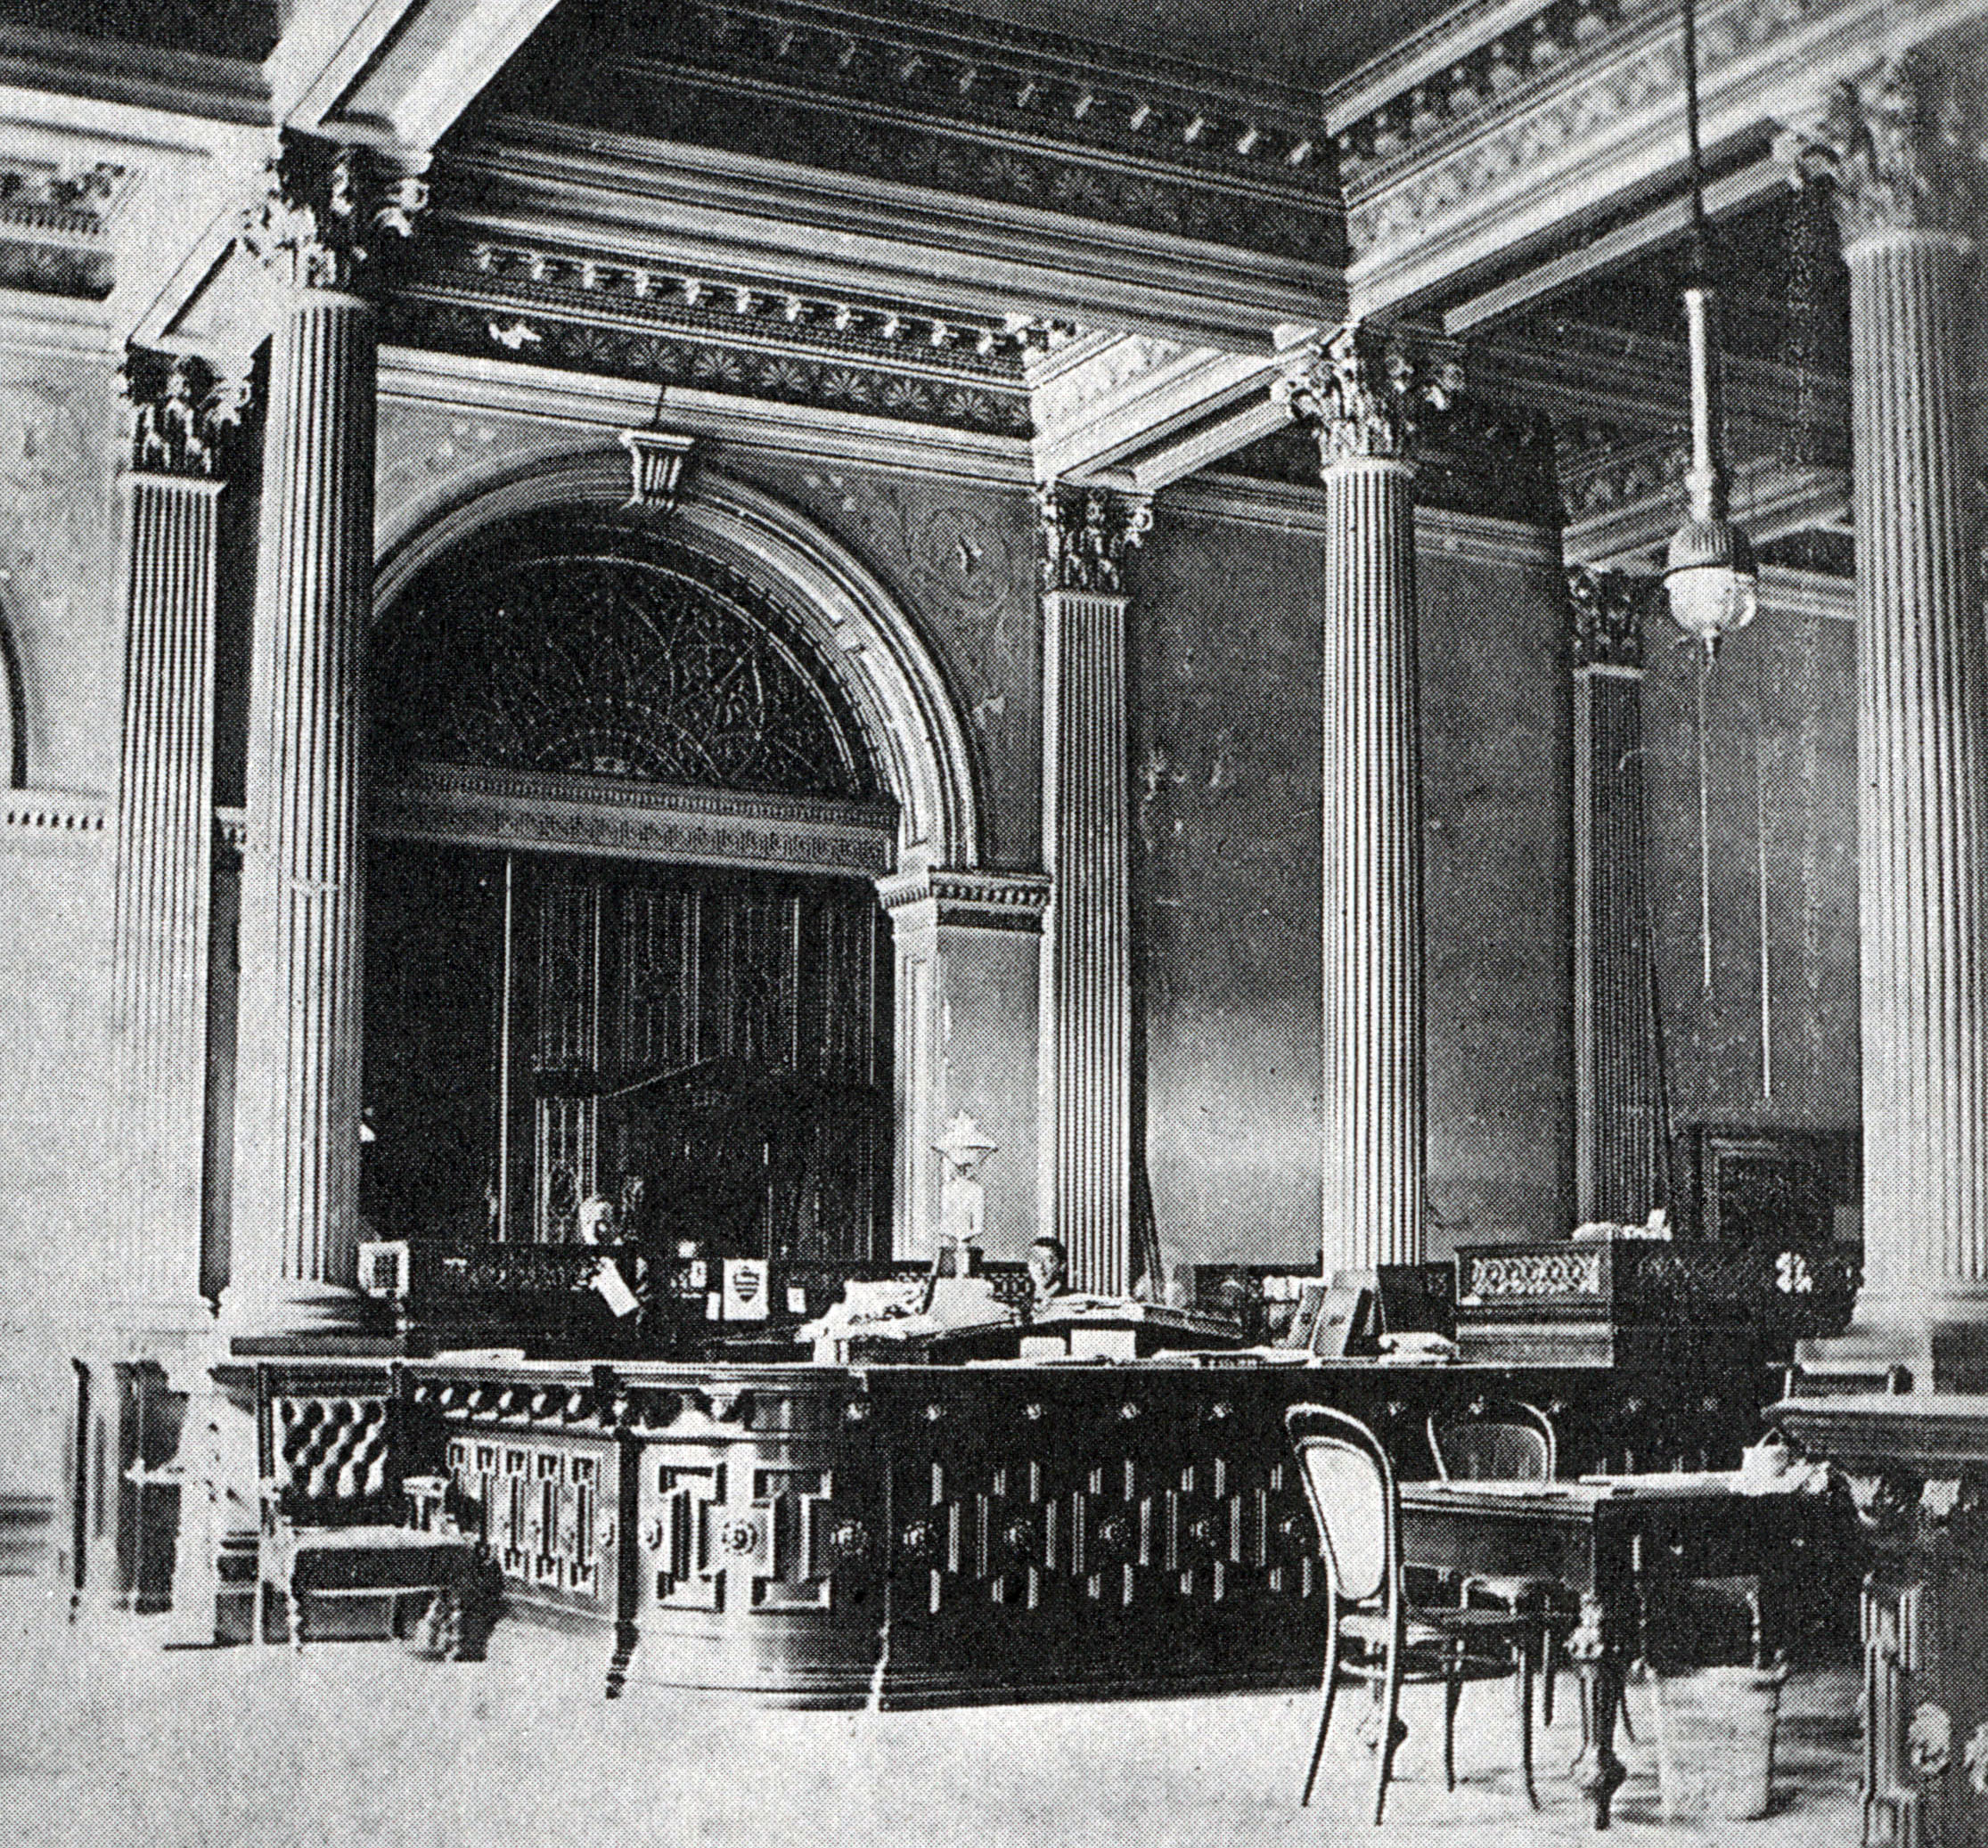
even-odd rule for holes
{"type": "Polygon", "coordinates": [[[899,817],[791,602],[521,511],[406,580],[368,680],[368,1218],[887,1250],[899,817]]]}

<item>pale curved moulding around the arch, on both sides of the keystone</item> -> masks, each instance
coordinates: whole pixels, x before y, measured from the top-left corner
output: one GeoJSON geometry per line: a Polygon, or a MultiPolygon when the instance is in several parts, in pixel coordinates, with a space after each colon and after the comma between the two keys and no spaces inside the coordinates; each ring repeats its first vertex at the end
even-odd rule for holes
{"type": "MultiPolygon", "coordinates": [[[[590,449],[487,481],[419,525],[382,535],[376,620],[421,568],[529,513],[614,515],[628,457],[590,449]]],[[[976,866],[980,815],[966,727],[909,614],[847,546],[759,489],[698,469],[658,531],[759,582],[807,630],[863,723],[899,805],[897,870],[976,866]]]]}

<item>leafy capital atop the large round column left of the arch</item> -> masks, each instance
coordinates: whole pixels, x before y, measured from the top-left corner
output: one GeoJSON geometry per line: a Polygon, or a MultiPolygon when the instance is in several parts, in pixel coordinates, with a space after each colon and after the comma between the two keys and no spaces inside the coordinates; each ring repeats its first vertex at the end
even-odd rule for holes
{"type": "Polygon", "coordinates": [[[356,288],[414,236],[427,181],[370,147],[284,135],[268,193],[243,213],[243,246],[294,288],[356,288]]]}

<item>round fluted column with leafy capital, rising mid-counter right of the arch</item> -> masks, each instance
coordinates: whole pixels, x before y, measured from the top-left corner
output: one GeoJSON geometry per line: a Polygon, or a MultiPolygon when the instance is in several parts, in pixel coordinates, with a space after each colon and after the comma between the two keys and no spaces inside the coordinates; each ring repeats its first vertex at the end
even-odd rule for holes
{"type": "Polygon", "coordinates": [[[1421,1262],[1421,739],[1413,370],[1346,328],[1282,395],[1318,435],[1324,624],[1324,1270],[1421,1262]]]}

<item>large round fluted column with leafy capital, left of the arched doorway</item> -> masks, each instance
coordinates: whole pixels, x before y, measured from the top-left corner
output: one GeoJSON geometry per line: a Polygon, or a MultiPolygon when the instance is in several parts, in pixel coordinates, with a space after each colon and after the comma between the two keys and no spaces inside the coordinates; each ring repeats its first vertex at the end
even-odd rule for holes
{"type": "Polygon", "coordinates": [[[245,227],[270,340],[248,682],[229,1321],[348,1317],[360,1123],[360,650],[372,612],[378,328],[358,292],[419,183],[292,139],[245,227]]]}

